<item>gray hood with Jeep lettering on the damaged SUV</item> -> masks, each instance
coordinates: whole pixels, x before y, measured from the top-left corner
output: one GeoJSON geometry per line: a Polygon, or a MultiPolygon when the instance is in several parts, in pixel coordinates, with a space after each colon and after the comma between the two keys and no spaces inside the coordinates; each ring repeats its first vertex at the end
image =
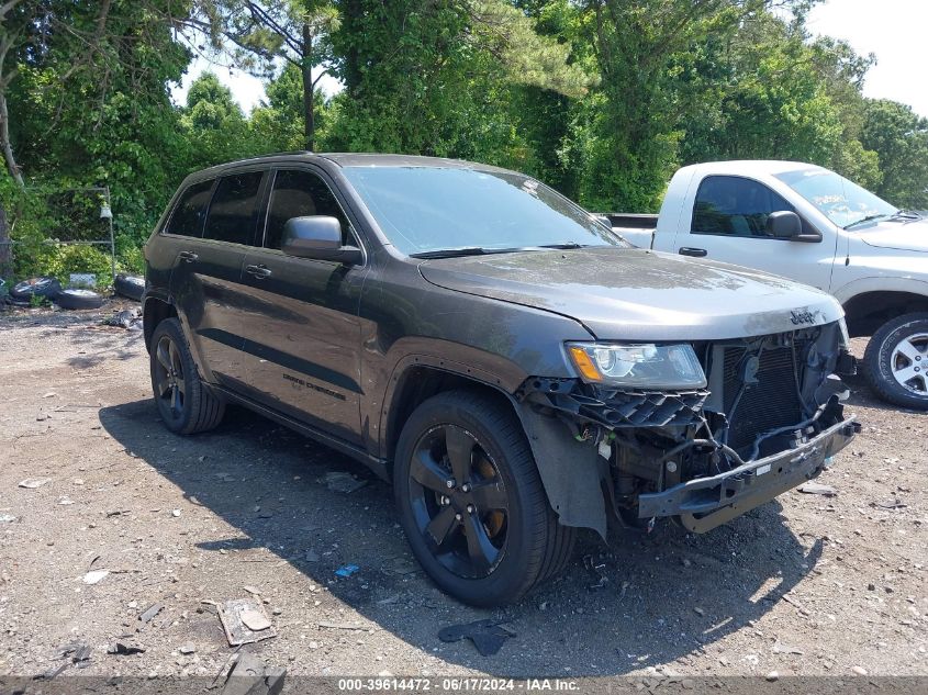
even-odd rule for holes
{"type": "Polygon", "coordinates": [[[602,340],[719,340],[837,321],[825,292],[756,270],[641,249],[423,261],[433,284],[556,312],[602,340]]]}

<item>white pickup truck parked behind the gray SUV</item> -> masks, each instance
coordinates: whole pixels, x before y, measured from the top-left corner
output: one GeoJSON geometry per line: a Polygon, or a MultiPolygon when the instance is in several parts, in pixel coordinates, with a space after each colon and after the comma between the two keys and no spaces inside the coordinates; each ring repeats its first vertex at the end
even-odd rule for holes
{"type": "Polygon", "coordinates": [[[633,244],[814,285],[872,336],[864,374],[884,400],[928,410],[928,220],[797,161],[683,167],[659,215],[605,214],[633,244]]]}

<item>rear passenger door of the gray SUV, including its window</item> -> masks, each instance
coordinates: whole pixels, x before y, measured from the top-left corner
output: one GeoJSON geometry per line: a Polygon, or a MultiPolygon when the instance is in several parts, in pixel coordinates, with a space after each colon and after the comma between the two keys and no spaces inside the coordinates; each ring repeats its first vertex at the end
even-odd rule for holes
{"type": "Polygon", "coordinates": [[[205,214],[199,213],[202,221],[188,215],[171,273],[171,293],[203,375],[233,390],[245,382],[242,266],[255,243],[265,176],[242,171],[210,182],[205,214]]]}

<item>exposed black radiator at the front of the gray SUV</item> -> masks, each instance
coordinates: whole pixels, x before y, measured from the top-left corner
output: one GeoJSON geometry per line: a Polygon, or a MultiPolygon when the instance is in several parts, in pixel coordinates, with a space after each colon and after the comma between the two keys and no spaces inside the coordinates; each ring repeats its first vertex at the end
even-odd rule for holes
{"type": "MultiPolygon", "coordinates": [[[[761,351],[758,359],[757,383],[749,384],[731,408],[745,373],[745,361],[756,352],[743,346],[725,349],[723,367],[723,400],[729,417],[728,446],[748,456],[758,435],[803,421],[803,407],[796,392],[793,373],[793,348],[773,347],[761,351]]],[[[797,363],[802,363],[803,346],[796,345],[797,363]]]]}

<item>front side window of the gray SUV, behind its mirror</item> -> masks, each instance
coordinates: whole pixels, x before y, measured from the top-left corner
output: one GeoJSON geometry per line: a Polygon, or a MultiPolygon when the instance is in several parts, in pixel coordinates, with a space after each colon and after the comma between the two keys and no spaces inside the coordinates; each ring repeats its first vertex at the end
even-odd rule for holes
{"type": "Polygon", "coordinates": [[[342,244],[350,244],[348,220],[325,181],[311,171],[284,169],[277,172],[270,194],[268,226],[265,233],[267,248],[280,248],[283,225],[291,217],[327,215],[342,223],[342,244]]]}

